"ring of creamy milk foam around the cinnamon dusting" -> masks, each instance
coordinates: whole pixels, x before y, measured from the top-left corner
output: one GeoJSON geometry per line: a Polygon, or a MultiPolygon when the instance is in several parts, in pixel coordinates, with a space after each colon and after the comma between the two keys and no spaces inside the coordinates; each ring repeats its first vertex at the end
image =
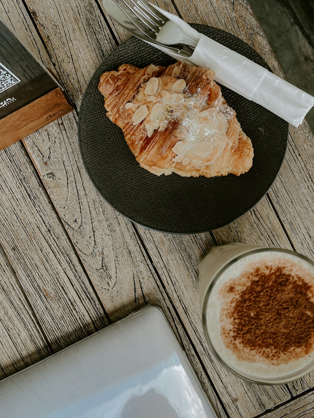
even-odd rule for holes
{"type": "MultiPolygon", "coordinates": [[[[241,273],[247,269],[248,265],[258,267],[258,265],[265,264],[273,266],[292,266],[291,273],[294,275],[299,274],[307,283],[311,285],[314,292],[314,268],[306,260],[303,260],[296,255],[278,251],[264,251],[240,258],[237,262],[233,263],[227,270],[225,270],[224,273],[222,273],[208,298],[206,308],[206,326],[208,336],[211,340],[211,344],[224,363],[244,377],[251,378],[252,380],[258,380],[258,377],[280,378],[287,375],[291,377],[293,375],[293,378],[294,376],[296,376],[295,378],[298,378],[298,375],[306,374],[306,371],[304,370],[313,367],[314,349],[304,357],[287,362],[287,364],[273,365],[271,362],[267,362],[263,358],[258,358],[258,356],[254,355],[254,353],[251,356],[250,361],[239,359],[231,349],[226,347],[221,336],[221,327],[222,325],[226,325],[221,322],[221,308],[222,303],[224,302],[221,295],[224,294],[224,288],[226,288],[228,283],[239,278],[241,273]]],[[[228,321],[225,317],[223,320],[228,321]]],[[[248,349],[248,351],[250,352],[250,349],[248,349]]],[[[293,378],[291,378],[291,380],[293,380],[293,378]]]]}

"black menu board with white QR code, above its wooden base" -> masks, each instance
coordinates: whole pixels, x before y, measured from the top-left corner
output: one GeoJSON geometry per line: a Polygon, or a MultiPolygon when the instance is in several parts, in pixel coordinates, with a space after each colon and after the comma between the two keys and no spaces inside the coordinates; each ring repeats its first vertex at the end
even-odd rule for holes
{"type": "Polygon", "coordinates": [[[60,87],[0,20],[0,119],[60,87]]]}

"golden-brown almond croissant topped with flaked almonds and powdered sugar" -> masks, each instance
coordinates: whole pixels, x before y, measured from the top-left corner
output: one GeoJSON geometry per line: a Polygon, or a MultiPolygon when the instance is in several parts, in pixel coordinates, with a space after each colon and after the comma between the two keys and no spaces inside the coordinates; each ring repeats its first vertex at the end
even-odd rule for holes
{"type": "Polygon", "coordinates": [[[180,176],[239,176],[253,148],[215,73],[181,62],[143,69],[123,64],[101,75],[107,116],[122,128],[140,166],[180,176]]]}

